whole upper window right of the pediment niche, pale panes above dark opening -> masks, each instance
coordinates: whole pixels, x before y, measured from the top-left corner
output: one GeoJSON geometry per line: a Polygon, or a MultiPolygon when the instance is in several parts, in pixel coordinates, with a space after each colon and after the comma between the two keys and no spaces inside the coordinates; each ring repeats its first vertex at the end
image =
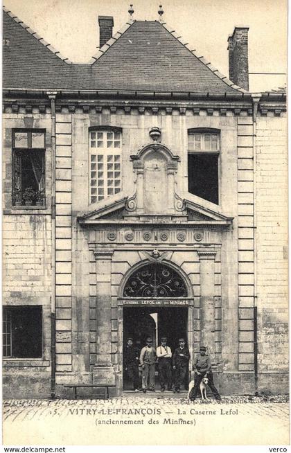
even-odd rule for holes
{"type": "Polygon", "coordinates": [[[188,130],[188,191],[219,204],[220,131],[188,130]]]}

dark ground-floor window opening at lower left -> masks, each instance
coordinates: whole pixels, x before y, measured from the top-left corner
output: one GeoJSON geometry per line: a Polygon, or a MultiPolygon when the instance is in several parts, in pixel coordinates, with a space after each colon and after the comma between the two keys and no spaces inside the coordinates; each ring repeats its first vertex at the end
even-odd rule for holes
{"type": "Polygon", "coordinates": [[[3,307],[3,357],[42,357],[42,307],[3,307]]]}

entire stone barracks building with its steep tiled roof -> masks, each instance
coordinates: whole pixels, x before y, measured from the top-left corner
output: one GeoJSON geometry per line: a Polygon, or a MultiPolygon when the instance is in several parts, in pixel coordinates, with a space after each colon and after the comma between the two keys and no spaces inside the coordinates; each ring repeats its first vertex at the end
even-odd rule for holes
{"type": "Polygon", "coordinates": [[[247,91],[248,29],[240,88],[161,21],[99,17],[73,64],[3,20],[4,396],[119,395],[149,334],[190,373],[206,345],[222,394],[287,392],[285,91],[247,91]]]}

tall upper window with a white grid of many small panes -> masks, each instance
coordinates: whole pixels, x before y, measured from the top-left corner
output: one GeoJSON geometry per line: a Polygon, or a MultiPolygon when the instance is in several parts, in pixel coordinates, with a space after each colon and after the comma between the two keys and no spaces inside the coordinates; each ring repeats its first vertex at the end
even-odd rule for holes
{"type": "Polygon", "coordinates": [[[121,129],[89,131],[90,203],[121,192],[121,129]]]}

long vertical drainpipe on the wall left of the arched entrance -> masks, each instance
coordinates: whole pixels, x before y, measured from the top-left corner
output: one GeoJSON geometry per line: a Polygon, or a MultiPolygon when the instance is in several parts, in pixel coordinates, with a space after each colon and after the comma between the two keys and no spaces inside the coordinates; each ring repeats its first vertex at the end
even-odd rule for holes
{"type": "Polygon", "coordinates": [[[51,100],[51,398],[55,398],[55,96],[51,100]]]}

